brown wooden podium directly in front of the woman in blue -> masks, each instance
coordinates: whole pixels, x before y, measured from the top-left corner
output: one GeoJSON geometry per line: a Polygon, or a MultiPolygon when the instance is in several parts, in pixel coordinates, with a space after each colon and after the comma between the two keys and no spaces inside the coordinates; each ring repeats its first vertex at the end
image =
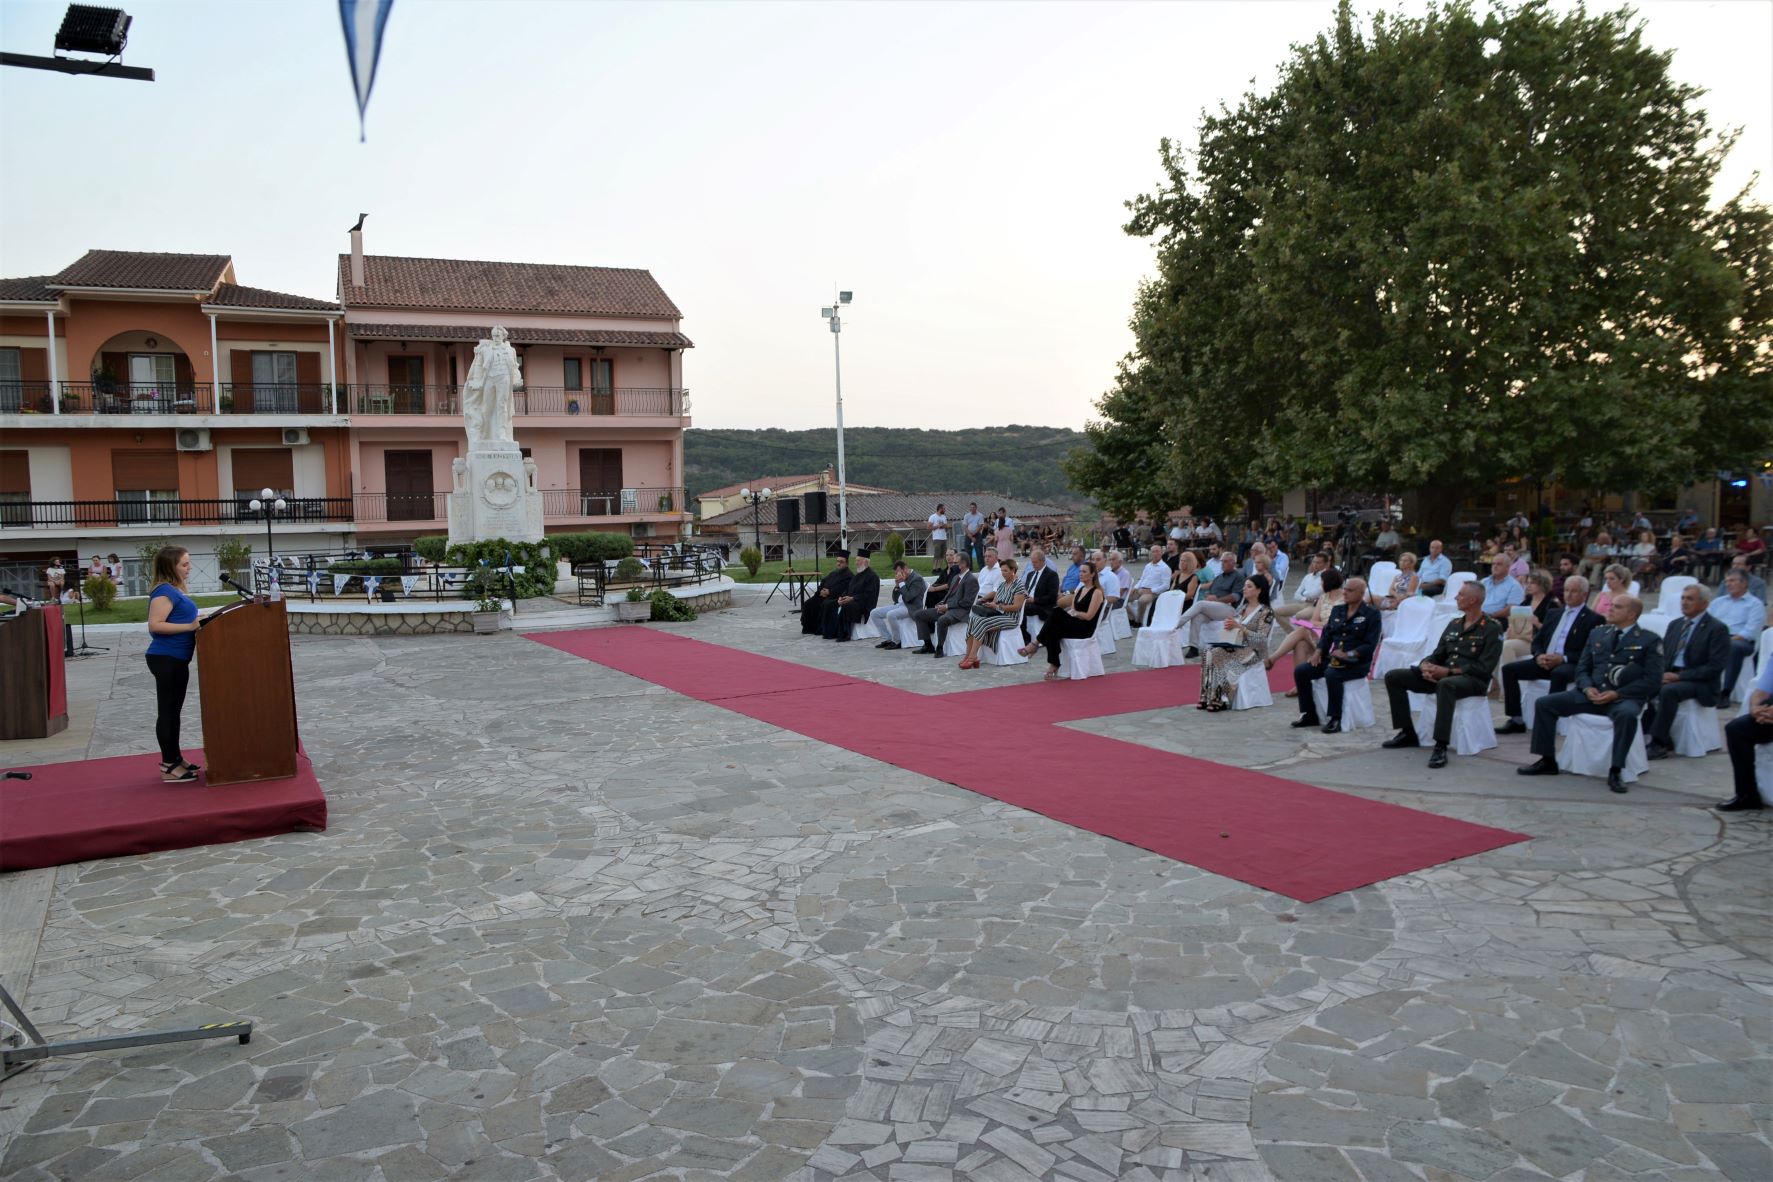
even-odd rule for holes
{"type": "Polygon", "coordinates": [[[296,680],[282,603],[238,603],[197,629],[209,787],[296,774],[296,680]]]}

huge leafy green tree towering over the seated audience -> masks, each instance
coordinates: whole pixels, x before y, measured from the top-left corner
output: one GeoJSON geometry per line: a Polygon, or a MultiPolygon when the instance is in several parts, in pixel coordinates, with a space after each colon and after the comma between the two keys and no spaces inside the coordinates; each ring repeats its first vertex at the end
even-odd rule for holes
{"type": "Polygon", "coordinates": [[[1773,441],[1766,207],[1629,12],[1351,5],[1129,202],[1158,246],[1074,484],[1156,509],[1500,480],[1658,489],[1773,441]]]}

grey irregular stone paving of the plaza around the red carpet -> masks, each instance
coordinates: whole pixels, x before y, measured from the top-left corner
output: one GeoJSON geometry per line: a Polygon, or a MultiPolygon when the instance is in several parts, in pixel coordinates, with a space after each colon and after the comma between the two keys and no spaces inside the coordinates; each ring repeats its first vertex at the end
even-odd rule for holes
{"type": "MultiPolygon", "coordinates": [[[[1039,677],[778,608],[681,631],[924,693],[1039,677]]],[[[145,636],[106,643],[9,766],[152,751],[145,636]]],[[[1773,1178],[1773,822],[1706,808],[1722,753],[1619,797],[1278,696],[1073,723],[1534,836],[1296,904],[519,634],[294,656],[326,833],[0,877],[0,976],[51,1037],[252,1044],[12,1079],[0,1177],[1773,1178]]]]}

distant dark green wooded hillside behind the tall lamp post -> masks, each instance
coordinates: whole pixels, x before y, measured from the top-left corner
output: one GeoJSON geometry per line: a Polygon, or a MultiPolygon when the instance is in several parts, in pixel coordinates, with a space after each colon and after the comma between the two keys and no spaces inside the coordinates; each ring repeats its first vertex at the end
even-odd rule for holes
{"type": "MultiPolygon", "coordinates": [[[[1067,509],[1087,505],[1060,471],[1058,461],[1083,445],[1083,432],[1066,427],[979,427],[915,431],[910,427],[844,427],[844,475],[901,493],[991,489],[1005,496],[1067,509]]],[[[837,466],[837,431],[704,431],[683,439],[690,500],[697,493],[755,480],[768,473],[819,471],[837,466]]]]}

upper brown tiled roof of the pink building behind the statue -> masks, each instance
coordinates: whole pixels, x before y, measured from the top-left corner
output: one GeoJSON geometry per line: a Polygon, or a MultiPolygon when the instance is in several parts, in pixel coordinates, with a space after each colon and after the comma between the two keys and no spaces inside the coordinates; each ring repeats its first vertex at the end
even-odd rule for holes
{"type": "Polygon", "coordinates": [[[353,308],[683,315],[651,271],[626,268],[363,255],[363,278],[355,287],[351,255],[339,255],[339,292],[353,308]]]}

